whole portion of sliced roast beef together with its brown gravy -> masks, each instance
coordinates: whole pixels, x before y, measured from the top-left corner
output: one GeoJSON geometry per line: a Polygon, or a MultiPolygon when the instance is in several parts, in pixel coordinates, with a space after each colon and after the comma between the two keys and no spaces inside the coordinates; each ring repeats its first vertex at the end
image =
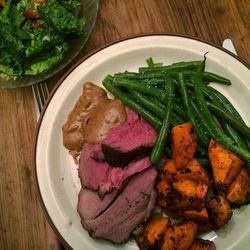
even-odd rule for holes
{"type": "Polygon", "coordinates": [[[149,159],[155,129],[100,87],[84,83],[62,131],[66,148],[80,152],[77,210],[83,227],[93,238],[127,241],[155,207],[157,171],[149,159]]]}

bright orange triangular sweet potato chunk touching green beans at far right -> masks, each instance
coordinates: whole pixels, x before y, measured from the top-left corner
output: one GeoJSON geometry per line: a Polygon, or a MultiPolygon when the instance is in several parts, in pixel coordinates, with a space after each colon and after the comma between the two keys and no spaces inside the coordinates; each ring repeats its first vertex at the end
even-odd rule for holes
{"type": "Polygon", "coordinates": [[[226,193],[241,171],[243,161],[213,139],[209,143],[208,151],[216,187],[219,192],[226,193]]]}

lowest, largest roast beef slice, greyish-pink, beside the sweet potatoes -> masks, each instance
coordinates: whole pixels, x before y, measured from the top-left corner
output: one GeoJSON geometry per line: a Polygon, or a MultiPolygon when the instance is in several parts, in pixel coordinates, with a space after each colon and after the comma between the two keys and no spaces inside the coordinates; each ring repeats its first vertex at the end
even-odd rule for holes
{"type": "MultiPolygon", "coordinates": [[[[78,212],[83,227],[93,238],[102,238],[114,243],[126,242],[135,227],[145,221],[154,209],[155,179],[156,170],[152,167],[133,175],[120,194],[105,209],[102,207],[102,202],[98,200],[97,193],[93,202],[89,201],[88,206],[78,204],[78,207],[81,207],[78,212]],[[95,211],[100,206],[97,217],[89,216],[88,212],[84,212],[84,210],[92,209],[91,206],[95,208],[95,211]],[[90,219],[91,217],[95,218],[90,219]]],[[[81,202],[85,200],[80,198],[79,203],[81,202]]]]}

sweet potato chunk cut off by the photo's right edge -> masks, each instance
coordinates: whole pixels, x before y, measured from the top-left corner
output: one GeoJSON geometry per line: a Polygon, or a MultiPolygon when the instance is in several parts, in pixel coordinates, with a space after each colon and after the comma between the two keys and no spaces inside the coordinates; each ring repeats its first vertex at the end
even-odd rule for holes
{"type": "Polygon", "coordinates": [[[233,205],[242,205],[250,200],[250,177],[244,168],[229,186],[226,198],[233,205]]]}

